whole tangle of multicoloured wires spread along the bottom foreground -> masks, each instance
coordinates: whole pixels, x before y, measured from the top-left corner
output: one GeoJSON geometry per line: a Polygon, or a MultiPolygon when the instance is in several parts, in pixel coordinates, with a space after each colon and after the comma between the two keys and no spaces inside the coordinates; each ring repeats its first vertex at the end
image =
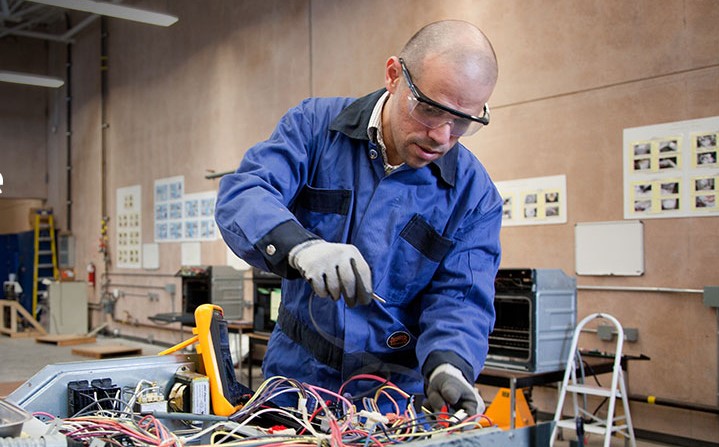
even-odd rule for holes
{"type": "MultiPolygon", "coordinates": [[[[462,419],[448,413],[430,413],[425,409],[417,414],[409,394],[381,377],[364,374],[353,377],[337,392],[301,384],[293,379],[272,377],[260,385],[229,421],[217,422],[202,429],[195,427],[188,430],[187,434],[180,435],[179,432],[170,431],[153,416],[139,416],[128,411],[131,408],[129,402],[147,393],[148,388],[154,388],[147,385],[138,385],[128,403],[118,406],[125,411],[89,408],[89,411],[95,413],[85,415],[87,412],[81,412],[75,417],[57,420],[60,432],[86,445],[93,439],[99,439],[108,446],[116,447],[180,447],[198,443],[224,447],[381,447],[492,425],[484,415],[462,419]],[[357,409],[343,395],[345,387],[353,380],[375,380],[379,383],[373,397],[365,396],[361,399],[361,409],[357,409]],[[297,408],[279,408],[271,404],[273,399],[284,394],[297,396],[297,408]],[[396,397],[408,402],[406,408],[400,406],[396,397]],[[379,399],[389,400],[394,412],[382,414],[377,403],[379,399]],[[262,428],[257,425],[258,418],[272,415],[282,416],[299,428],[262,428]]],[[[52,418],[46,413],[36,415],[52,418]]]]}

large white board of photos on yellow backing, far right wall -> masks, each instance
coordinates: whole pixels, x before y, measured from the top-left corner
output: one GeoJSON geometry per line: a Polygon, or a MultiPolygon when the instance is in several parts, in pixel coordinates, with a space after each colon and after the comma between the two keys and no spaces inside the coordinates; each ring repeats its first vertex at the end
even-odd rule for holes
{"type": "Polygon", "coordinates": [[[719,215],[719,117],[624,130],[624,218],[719,215]]]}

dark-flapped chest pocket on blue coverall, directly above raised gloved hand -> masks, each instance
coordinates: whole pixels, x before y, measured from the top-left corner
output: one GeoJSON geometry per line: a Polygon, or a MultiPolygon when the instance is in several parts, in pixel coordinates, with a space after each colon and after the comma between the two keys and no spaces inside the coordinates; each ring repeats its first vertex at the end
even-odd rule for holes
{"type": "Polygon", "coordinates": [[[305,185],[294,206],[294,214],[309,231],[327,241],[341,241],[352,205],[352,191],[320,189],[305,185]]]}

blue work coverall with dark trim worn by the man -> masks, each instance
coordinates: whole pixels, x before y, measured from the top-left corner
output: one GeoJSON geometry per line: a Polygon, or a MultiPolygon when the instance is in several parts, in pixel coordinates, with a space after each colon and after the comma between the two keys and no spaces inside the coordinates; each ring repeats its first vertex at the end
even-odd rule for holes
{"type": "MultiPolygon", "coordinates": [[[[303,101],[220,182],[216,220],[224,240],[240,258],[284,278],[265,377],[336,391],[354,374],[390,374],[419,394],[423,374],[441,363],[470,383],[483,367],[495,316],[501,197],[461,144],[426,167],[385,175],[367,135],[383,92],[303,101]],[[313,296],[287,255],[315,238],[355,245],[387,303],[349,308],[313,296]]],[[[353,384],[353,393],[369,385],[353,384]]]]}

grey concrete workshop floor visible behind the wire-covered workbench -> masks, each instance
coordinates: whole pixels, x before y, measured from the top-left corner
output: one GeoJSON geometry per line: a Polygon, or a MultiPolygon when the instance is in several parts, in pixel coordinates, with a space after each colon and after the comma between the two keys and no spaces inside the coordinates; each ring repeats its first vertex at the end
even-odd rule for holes
{"type": "MultiPolygon", "coordinates": [[[[140,348],[142,355],[155,355],[165,349],[164,346],[112,337],[98,337],[97,342],[93,345],[109,346],[118,344],[131,348],[140,348]]],[[[10,338],[0,335],[0,397],[12,392],[46,365],[95,360],[87,356],[73,354],[73,348],[77,348],[78,346],[88,345],[56,346],[54,344],[37,343],[32,338],[10,338]]],[[[247,383],[246,366],[243,366],[242,370],[236,369],[235,373],[242,383],[247,383]]],[[[260,368],[253,368],[252,375],[253,385],[256,387],[262,381],[260,368]]],[[[567,433],[567,437],[573,435],[573,433],[567,433]]],[[[558,441],[555,443],[555,446],[558,447],[568,447],[570,445],[569,441],[558,441]]],[[[589,437],[589,442],[586,445],[590,447],[602,446],[603,438],[598,435],[592,435],[589,437]]],[[[623,447],[625,443],[621,438],[614,438],[612,439],[611,445],[612,447],[623,447]]],[[[637,447],[656,447],[659,445],[665,444],[637,441],[637,447]]]]}

